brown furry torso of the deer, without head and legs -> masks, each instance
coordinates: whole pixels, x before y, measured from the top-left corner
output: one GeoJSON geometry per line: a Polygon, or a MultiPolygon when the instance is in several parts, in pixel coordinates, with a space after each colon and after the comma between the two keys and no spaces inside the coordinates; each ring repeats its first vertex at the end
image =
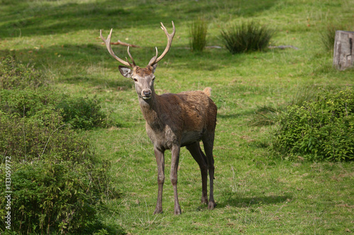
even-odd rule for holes
{"type": "Polygon", "coordinates": [[[195,143],[205,132],[215,130],[217,107],[202,91],[154,93],[149,102],[140,100],[140,107],[147,121],[147,134],[160,150],[195,143]]]}

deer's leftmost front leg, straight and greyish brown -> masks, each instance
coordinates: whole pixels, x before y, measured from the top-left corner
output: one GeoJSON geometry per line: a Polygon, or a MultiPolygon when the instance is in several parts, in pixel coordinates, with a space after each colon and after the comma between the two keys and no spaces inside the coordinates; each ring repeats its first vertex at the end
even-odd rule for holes
{"type": "Polygon", "coordinates": [[[154,149],[156,163],[157,163],[157,185],[159,189],[157,191],[157,203],[154,211],[154,215],[158,213],[162,213],[162,189],[164,187],[165,182],[165,157],[164,152],[160,150],[154,149]]]}

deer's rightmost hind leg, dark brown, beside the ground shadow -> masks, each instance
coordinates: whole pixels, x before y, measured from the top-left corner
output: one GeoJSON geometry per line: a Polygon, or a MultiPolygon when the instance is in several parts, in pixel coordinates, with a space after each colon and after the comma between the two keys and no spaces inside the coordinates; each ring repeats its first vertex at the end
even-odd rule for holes
{"type": "Polygon", "coordinates": [[[207,205],[208,209],[214,209],[216,206],[214,200],[214,157],[212,155],[212,149],[214,147],[214,131],[212,133],[206,133],[202,138],[202,143],[204,145],[205,155],[207,155],[207,169],[209,171],[209,181],[210,181],[210,195],[209,203],[207,205]]]}

